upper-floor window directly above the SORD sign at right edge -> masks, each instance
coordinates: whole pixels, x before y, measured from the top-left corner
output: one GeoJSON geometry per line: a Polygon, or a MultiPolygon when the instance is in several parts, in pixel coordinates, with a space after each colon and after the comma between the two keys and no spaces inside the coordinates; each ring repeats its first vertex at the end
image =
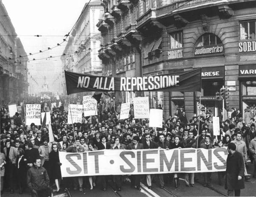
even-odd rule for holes
{"type": "Polygon", "coordinates": [[[256,21],[248,21],[240,23],[240,39],[256,39],[255,25],[256,21]]]}

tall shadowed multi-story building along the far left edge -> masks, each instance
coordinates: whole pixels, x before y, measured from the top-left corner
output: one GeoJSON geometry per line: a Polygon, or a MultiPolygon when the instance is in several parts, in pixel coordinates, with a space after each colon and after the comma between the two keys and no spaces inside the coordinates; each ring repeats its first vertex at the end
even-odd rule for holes
{"type": "Polygon", "coordinates": [[[0,16],[0,104],[4,104],[26,96],[28,58],[2,1],[0,16]]]}

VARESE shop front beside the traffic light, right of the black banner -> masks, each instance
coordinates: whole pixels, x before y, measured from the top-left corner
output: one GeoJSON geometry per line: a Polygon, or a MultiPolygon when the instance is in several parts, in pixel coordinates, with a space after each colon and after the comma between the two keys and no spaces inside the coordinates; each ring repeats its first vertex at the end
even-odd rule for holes
{"type": "Polygon", "coordinates": [[[216,92],[224,85],[224,66],[202,68],[202,89],[201,106],[199,106],[200,93],[195,95],[197,114],[207,114],[218,116],[221,114],[222,102],[216,100],[216,92]],[[200,113],[199,113],[199,108],[200,113]]]}

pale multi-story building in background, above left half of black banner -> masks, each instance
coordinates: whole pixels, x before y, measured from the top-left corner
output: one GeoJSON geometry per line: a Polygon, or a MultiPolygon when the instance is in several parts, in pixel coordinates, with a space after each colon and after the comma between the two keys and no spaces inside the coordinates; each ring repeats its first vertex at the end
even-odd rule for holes
{"type": "MultiPolygon", "coordinates": [[[[101,44],[101,35],[96,24],[103,14],[100,0],[92,0],[85,4],[81,17],[76,23],[61,57],[65,70],[101,75],[102,62],[98,50],[101,44]]],[[[63,87],[65,88],[64,84],[63,87]]]]}

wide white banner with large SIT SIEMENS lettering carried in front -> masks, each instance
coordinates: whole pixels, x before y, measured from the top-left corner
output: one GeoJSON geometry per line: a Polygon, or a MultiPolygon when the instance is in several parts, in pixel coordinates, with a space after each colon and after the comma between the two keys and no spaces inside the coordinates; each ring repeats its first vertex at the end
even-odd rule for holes
{"type": "Polygon", "coordinates": [[[226,170],[227,149],[139,149],[59,152],[62,177],[218,172],[226,170]]]}

